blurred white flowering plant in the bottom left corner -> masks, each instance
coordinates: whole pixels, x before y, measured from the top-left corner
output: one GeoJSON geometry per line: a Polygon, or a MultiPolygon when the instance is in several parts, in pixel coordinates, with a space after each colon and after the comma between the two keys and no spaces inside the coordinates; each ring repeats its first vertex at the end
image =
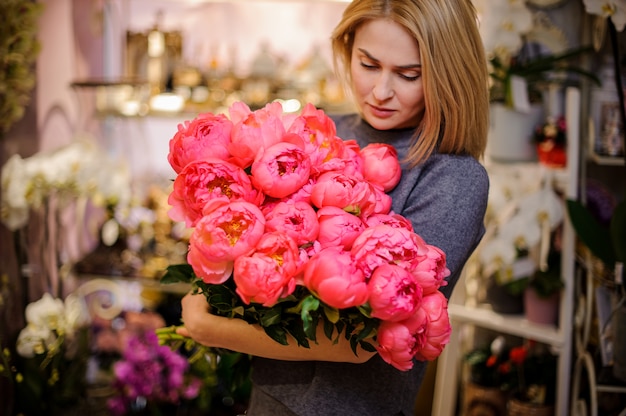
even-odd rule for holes
{"type": "Polygon", "coordinates": [[[26,326],[17,337],[12,357],[3,351],[0,375],[11,379],[15,411],[51,414],[76,406],[86,388],[90,318],[83,298],[65,300],[49,293],[29,303],[26,326]]]}

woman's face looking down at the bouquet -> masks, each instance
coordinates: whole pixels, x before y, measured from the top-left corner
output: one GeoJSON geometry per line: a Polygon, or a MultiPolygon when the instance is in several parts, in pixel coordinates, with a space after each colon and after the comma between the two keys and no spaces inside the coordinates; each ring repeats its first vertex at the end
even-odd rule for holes
{"type": "Polygon", "coordinates": [[[363,23],[355,32],[350,73],[363,118],[378,130],[416,127],[424,113],[422,66],[417,42],[387,19],[363,23]]]}

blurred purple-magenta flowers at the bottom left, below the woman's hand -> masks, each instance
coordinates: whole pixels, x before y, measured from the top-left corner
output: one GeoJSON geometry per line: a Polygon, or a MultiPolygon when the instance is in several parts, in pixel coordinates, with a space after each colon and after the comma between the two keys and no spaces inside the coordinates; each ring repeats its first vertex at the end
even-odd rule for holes
{"type": "Polygon", "coordinates": [[[187,359],[159,345],[154,332],[131,337],[122,359],[113,365],[117,395],[109,399],[109,410],[125,415],[195,398],[202,383],[187,372],[188,368],[187,359]]]}

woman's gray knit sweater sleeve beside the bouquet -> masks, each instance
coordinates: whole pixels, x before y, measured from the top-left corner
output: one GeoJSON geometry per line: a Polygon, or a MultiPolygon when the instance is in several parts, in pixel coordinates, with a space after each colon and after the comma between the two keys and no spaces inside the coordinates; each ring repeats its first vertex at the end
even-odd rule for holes
{"type": "Polygon", "coordinates": [[[400,213],[428,244],[446,253],[450,276],[441,291],[449,298],[485,232],[489,177],[471,157],[434,155],[413,184],[400,213]]]}

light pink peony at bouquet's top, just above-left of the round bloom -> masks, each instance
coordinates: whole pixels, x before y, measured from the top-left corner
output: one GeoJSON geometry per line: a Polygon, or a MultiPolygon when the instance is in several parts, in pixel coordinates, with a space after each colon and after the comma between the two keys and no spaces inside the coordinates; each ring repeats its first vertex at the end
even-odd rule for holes
{"type": "Polygon", "coordinates": [[[260,149],[280,142],[286,133],[283,107],[278,102],[251,111],[247,104],[238,101],[228,111],[234,124],[228,150],[231,161],[241,168],[249,167],[260,149]]]}

